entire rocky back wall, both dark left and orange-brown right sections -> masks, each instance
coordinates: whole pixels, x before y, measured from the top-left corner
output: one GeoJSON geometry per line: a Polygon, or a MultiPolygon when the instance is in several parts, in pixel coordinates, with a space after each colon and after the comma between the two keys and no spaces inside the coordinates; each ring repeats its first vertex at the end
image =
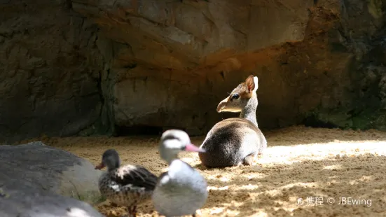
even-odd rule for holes
{"type": "Polygon", "coordinates": [[[385,1],[8,0],[0,8],[1,140],[138,125],[205,134],[235,116],[216,105],[251,73],[263,129],[385,130],[385,1]]]}

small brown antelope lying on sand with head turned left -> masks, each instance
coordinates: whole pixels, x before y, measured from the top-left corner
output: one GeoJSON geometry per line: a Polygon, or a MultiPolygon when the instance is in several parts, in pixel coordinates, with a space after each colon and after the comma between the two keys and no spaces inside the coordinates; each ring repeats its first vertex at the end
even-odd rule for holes
{"type": "Polygon", "coordinates": [[[249,76],[217,106],[217,112],[240,112],[239,118],[228,118],[216,123],[207,133],[198,156],[206,167],[252,165],[254,159],[267,147],[266,137],[256,120],[258,78],[249,76]]]}

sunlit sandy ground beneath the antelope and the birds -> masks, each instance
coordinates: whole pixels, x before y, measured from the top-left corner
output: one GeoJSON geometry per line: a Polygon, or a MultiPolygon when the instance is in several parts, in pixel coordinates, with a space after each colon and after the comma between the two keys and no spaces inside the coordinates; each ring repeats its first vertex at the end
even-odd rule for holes
{"type": "MultiPolygon", "coordinates": [[[[181,153],[180,158],[208,182],[209,198],[198,216],[386,216],[386,132],[298,126],[264,133],[268,149],[254,166],[205,169],[197,153],[181,153]],[[361,201],[338,204],[340,197],[361,201]]],[[[158,155],[158,139],[42,140],[94,164],[106,148],[115,148],[124,164],[143,165],[159,175],[167,165],[158,155]]],[[[191,139],[200,146],[204,138],[191,139]]],[[[109,217],[125,214],[125,209],[109,202],[97,205],[97,209],[109,217]]],[[[148,202],[139,206],[139,216],[158,214],[148,202]]]]}

